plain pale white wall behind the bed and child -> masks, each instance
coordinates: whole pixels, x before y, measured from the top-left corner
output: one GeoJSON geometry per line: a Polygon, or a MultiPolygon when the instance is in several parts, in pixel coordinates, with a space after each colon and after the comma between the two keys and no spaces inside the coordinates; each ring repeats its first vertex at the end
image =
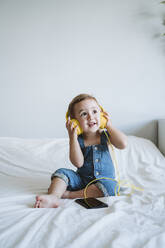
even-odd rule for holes
{"type": "Polygon", "coordinates": [[[145,127],[165,117],[163,8],[157,0],[1,0],[0,136],[67,136],[67,106],[83,92],[118,128],[150,135],[145,127]]]}

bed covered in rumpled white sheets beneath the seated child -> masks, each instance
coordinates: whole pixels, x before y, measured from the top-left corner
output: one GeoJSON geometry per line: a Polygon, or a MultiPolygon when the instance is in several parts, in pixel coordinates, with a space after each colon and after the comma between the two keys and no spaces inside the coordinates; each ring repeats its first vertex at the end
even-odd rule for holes
{"type": "Polygon", "coordinates": [[[109,207],[97,210],[74,200],[63,200],[58,209],[33,208],[51,173],[73,168],[68,139],[0,138],[0,247],[164,248],[165,120],[158,127],[162,153],[135,136],[125,150],[115,150],[121,179],[144,191],[101,198],[109,207]]]}

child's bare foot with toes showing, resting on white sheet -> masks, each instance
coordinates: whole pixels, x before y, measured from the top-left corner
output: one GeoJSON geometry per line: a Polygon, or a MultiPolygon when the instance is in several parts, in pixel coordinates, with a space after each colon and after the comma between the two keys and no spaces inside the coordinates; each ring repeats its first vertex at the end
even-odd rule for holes
{"type": "Polygon", "coordinates": [[[55,195],[36,196],[35,208],[57,208],[60,205],[60,199],[55,195]]]}

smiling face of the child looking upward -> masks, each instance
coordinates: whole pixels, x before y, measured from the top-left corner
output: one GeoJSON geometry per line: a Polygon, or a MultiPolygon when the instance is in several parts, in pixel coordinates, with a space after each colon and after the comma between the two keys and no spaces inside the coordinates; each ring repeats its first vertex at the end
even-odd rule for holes
{"type": "Polygon", "coordinates": [[[84,133],[96,132],[100,127],[100,107],[93,99],[86,99],[74,106],[75,118],[84,133]]]}

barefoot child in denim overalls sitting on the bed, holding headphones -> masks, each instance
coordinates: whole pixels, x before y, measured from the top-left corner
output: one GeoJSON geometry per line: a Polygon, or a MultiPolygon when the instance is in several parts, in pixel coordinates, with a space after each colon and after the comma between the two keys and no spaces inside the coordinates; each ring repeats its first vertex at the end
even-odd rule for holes
{"type": "MultiPolygon", "coordinates": [[[[86,185],[89,185],[87,197],[103,197],[115,195],[115,180],[99,180],[102,177],[115,179],[115,170],[110,155],[107,136],[100,130],[100,108],[95,97],[88,94],[76,96],[68,107],[66,128],[69,134],[70,161],[77,171],[66,168],[56,170],[51,177],[51,185],[47,195],[36,197],[36,208],[56,208],[60,198],[84,198],[86,185]],[[78,125],[74,127],[71,119],[76,119],[83,130],[77,135],[78,125]]],[[[106,119],[106,129],[111,144],[124,149],[127,137],[113,127],[109,114],[102,113],[106,119]]]]}

